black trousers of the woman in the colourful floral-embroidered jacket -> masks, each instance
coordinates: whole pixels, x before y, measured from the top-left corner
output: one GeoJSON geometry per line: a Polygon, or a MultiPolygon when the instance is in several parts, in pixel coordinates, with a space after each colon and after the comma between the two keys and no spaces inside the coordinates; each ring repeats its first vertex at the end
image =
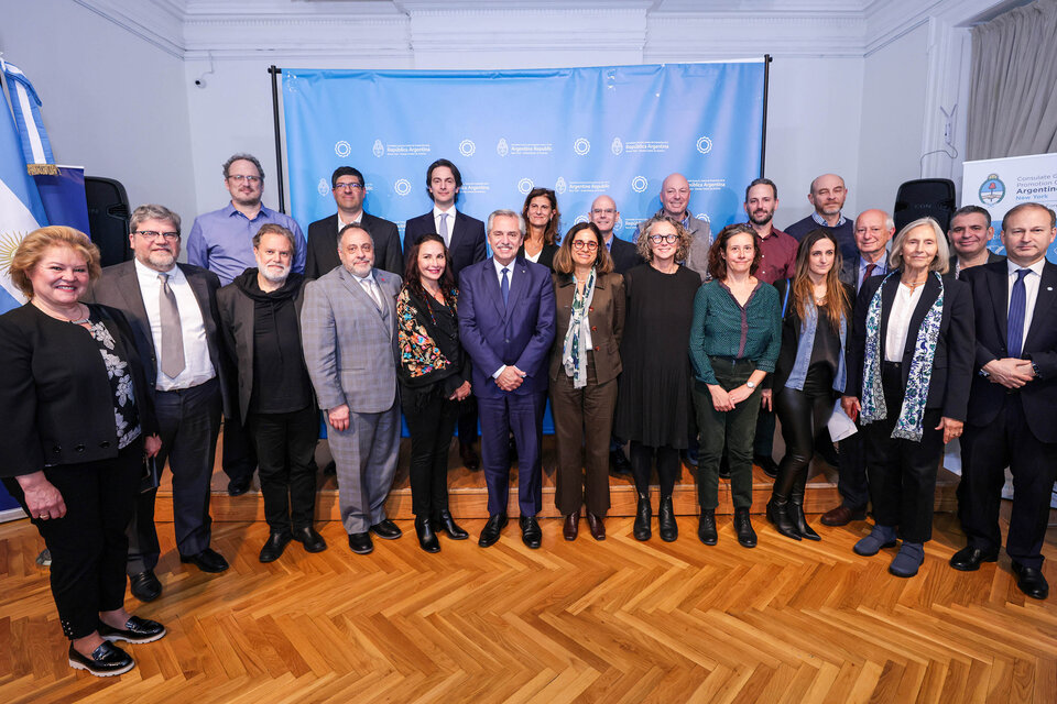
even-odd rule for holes
{"type": "MultiPolygon", "coordinates": [[[[403,386],[400,398],[411,432],[411,510],[419,518],[438,518],[448,508],[448,448],[462,404],[403,386]]],[[[476,436],[476,413],[473,425],[476,436]]]]}

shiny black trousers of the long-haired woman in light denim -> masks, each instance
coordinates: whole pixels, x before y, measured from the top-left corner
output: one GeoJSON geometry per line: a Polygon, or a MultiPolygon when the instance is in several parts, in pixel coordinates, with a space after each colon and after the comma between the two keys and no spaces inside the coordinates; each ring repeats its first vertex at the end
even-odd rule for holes
{"type": "Polygon", "coordinates": [[[815,440],[824,435],[833,413],[832,381],[832,373],[828,370],[811,369],[804,380],[803,389],[785,386],[774,396],[775,409],[782,420],[782,438],[785,440],[785,457],[778,464],[773,490],[774,497],[780,501],[788,499],[794,488],[803,498],[807,472],[815,454],[815,440]]]}

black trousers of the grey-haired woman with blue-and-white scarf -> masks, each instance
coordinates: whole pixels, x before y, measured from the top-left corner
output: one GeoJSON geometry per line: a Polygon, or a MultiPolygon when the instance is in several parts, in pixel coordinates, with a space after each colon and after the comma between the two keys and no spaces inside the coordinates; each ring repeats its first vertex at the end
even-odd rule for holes
{"type": "Polygon", "coordinates": [[[898,526],[904,541],[926,542],[933,537],[936,473],[944,454],[944,432],[936,430],[942,413],[938,408],[925,409],[920,441],[892,438],[903,407],[900,366],[882,362],[881,386],[887,418],[865,426],[870,501],[879,526],[898,526]]]}

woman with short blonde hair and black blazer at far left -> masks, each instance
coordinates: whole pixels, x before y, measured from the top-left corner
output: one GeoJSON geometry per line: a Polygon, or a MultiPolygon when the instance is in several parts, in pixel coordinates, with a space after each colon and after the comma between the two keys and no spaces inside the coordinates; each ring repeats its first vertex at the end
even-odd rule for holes
{"type": "Polygon", "coordinates": [[[162,442],[124,316],[79,302],[99,271],[99,250],[72,228],[35,230],[14,254],[29,302],[0,316],[0,476],[52,553],[70,667],[106,676],[134,667],[110,641],[165,628],[124,609],[124,529],[144,454],[162,442]]]}

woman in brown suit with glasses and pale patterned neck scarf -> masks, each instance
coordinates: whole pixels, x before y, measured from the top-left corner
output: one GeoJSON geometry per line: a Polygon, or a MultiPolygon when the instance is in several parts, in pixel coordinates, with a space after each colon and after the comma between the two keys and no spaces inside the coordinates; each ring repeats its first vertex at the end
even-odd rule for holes
{"type": "Polygon", "coordinates": [[[588,222],[566,233],[554,256],[553,278],[557,317],[551,408],[558,448],[554,502],[565,516],[566,540],[576,540],[585,503],[591,537],[604,540],[624,279],[613,273],[601,232],[588,222]]]}

